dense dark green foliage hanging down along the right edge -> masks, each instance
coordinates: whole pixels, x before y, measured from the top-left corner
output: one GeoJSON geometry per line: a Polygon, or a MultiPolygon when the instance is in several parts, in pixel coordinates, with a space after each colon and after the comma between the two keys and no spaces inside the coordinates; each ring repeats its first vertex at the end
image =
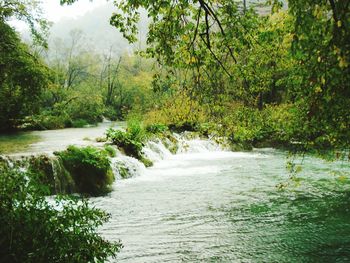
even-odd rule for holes
{"type": "Polygon", "coordinates": [[[350,5],[347,1],[291,0],[293,56],[300,79],[294,90],[304,114],[309,148],[347,148],[350,109],[350,5]]]}

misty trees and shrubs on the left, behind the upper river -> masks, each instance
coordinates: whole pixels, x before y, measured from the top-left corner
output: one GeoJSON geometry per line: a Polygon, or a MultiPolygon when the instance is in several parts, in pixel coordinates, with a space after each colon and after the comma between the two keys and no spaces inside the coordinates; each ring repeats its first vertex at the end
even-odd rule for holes
{"type": "Polygon", "coordinates": [[[79,30],[55,41],[44,56],[39,50],[47,47],[48,24],[40,12],[36,1],[0,3],[1,133],[84,127],[150,107],[152,62],[112,48],[89,49],[79,30]],[[33,46],[20,40],[7,22],[12,18],[30,26],[33,46]]]}

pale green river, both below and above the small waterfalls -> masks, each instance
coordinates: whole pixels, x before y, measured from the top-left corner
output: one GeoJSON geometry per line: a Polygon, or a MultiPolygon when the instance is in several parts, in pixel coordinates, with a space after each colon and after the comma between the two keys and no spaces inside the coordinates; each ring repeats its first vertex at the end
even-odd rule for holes
{"type": "MultiPolygon", "coordinates": [[[[106,127],[36,132],[24,152],[85,145],[106,127]]],[[[148,149],[153,167],[91,199],[112,215],[102,235],[124,245],[111,262],[350,262],[349,162],[308,156],[289,181],[283,151],[187,143],[176,155],[148,149]]]]}

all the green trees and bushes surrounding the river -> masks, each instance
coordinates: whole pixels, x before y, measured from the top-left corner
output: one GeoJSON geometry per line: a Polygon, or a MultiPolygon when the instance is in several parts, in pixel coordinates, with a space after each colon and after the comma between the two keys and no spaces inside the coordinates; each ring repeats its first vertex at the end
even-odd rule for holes
{"type": "MultiPolygon", "coordinates": [[[[270,147],[291,158],[348,165],[349,1],[121,0],[113,8],[109,23],[132,45],[129,51],[113,43],[101,50],[79,29],[52,40],[41,1],[0,2],[1,134],[126,121],[126,131],[109,129],[105,140],[146,167],[154,162],[142,152],[147,140],[174,142],[173,133],[184,131],[224,138],[231,151],[270,147]],[[29,40],[13,20],[27,25],[29,40]]],[[[72,187],[90,196],[112,191],[113,147],[69,146],[54,154],[71,174],[64,193],[72,187]]],[[[123,245],[97,231],[110,215],[43,186],[44,166],[45,159],[30,166],[33,179],[27,181],[20,168],[0,165],[0,261],[114,257],[123,245]],[[67,204],[62,211],[46,200],[51,194],[67,204]],[[42,218],[46,223],[36,231],[42,218]]],[[[294,175],[301,170],[293,162],[287,166],[294,175]]],[[[348,184],[347,175],[341,178],[348,184]]]]}

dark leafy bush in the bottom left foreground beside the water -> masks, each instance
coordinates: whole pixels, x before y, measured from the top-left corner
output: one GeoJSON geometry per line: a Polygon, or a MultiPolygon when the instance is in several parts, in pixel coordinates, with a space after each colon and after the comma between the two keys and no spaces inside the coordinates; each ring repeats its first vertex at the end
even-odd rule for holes
{"type": "Polygon", "coordinates": [[[34,178],[1,167],[1,262],[104,262],[115,256],[122,245],[97,234],[109,215],[75,197],[49,202],[34,178]]]}

